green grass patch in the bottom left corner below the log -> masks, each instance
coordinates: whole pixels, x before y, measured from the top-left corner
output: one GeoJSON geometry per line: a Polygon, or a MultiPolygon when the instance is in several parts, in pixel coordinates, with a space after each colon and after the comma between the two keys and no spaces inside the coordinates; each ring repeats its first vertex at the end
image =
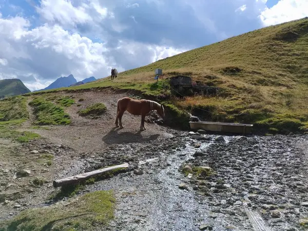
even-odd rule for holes
{"type": "Polygon", "coordinates": [[[22,211],[0,223],[0,230],[102,230],[114,217],[111,190],[95,191],[65,203],[22,211]]]}

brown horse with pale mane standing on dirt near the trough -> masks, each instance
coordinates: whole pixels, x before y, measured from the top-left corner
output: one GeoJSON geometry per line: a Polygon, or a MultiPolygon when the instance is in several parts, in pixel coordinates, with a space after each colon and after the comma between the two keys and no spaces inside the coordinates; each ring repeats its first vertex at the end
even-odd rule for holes
{"type": "Polygon", "coordinates": [[[118,125],[118,120],[119,120],[120,128],[123,128],[122,116],[126,110],[133,115],[141,115],[141,125],[140,125],[141,131],[145,130],[144,127],[145,115],[149,113],[151,110],[157,110],[159,116],[162,119],[165,118],[165,109],[163,105],[151,100],[134,100],[129,97],[124,97],[122,99],[119,99],[117,102],[117,118],[115,118],[114,122],[116,127],[119,127],[118,125]]]}

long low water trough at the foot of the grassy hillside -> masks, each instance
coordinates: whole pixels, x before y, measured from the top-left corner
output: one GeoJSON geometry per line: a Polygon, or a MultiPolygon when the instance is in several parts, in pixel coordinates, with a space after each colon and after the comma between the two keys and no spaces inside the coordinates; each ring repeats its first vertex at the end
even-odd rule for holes
{"type": "Polygon", "coordinates": [[[220,131],[232,133],[252,133],[252,124],[233,124],[233,123],[220,123],[210,121],[189,121],[190,128],[193,130],[206,130],[206,131],[220,131]]]}

